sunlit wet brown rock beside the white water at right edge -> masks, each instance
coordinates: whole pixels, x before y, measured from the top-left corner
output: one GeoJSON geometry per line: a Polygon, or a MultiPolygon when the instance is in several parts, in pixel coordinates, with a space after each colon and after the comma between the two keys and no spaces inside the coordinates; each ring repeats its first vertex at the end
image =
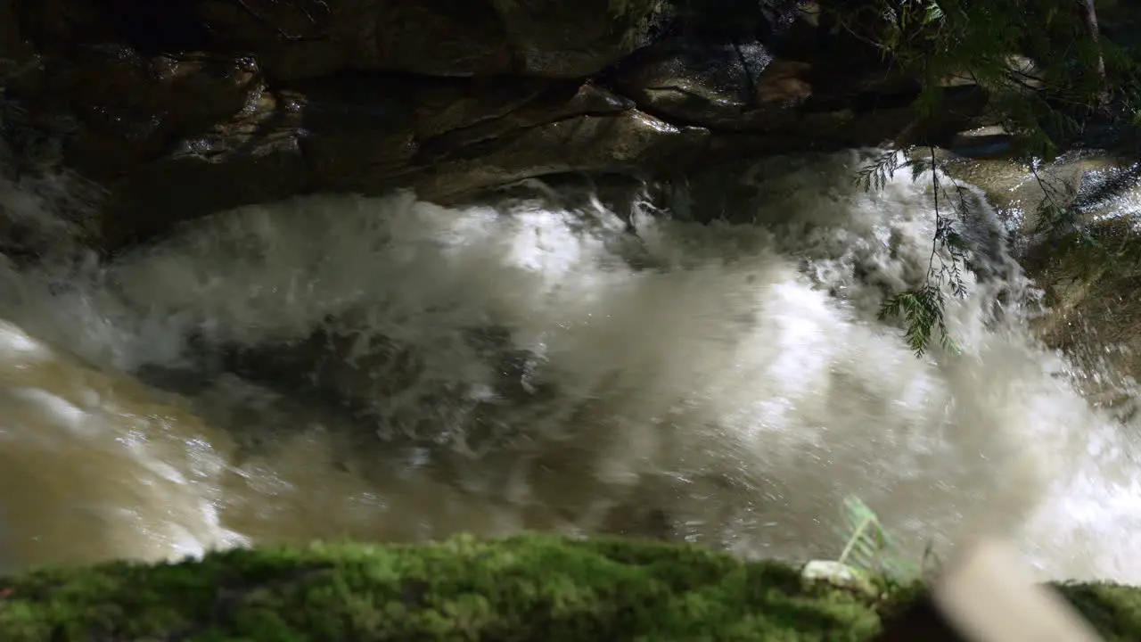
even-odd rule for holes
{"type": "Polygon", "coordinates": [[[1042,340],[1085,372],[1087,399],[1128,418],[1141,411],[1141,164],[1097,152],[1074,153],[1031,171],[1010,159],[946,154],[945,170],[986,192],[1010,231],[1015,257],[1045,310],[1031,320],[1042,340]],[[1076,214],[1050,230],[1043,203],[1076,214]]]}

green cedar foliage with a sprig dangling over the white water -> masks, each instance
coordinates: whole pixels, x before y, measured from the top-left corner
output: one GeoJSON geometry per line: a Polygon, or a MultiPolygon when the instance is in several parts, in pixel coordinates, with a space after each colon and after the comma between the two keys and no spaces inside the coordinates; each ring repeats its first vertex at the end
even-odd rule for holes
{"type": "MultiPolygon", "coordinates": [[[[836,16],[836,31],[921,80],[915,103],[921,115],[936,113],[948,81],[985,89],[1013,135],[1015,159],[1031,170],[1095,131],[1135,141],[1141,129],[1141,53],[1102,33],[1095,0],[832,0],[822,6],[836,16]]],[[[956,217],[948,214],[956,206],[953,199],[940,202],[938,163],[930,151],[929,162],[913,163],[901,163],[892,152],[856,177],[871,190],[903,164],[912,164],[913,172],[931,171],[937,222],[928,280],[893,295],[881,310],[882,316],[903,320],[916,355],[933,339],[957,352],[944,307],[947,296],[964,294],[956,217]]],[[[1043,184],[1036,232],[1097,249],[1078,222],[1075,194],[1062,193],[1067,190],[1043,184]]]]}

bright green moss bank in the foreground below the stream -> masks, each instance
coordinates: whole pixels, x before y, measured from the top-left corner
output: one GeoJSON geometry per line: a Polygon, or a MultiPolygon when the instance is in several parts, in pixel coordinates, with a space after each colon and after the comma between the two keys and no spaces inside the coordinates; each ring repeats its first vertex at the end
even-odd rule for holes
{"type": "MultiPolygon", "coordinates": [[[[1141,639],[1138,593],[1066,591],[1107,639],[1141,639]]],[[[7,642],[867,640],[899,607],[697,547],[542,536],[44,569],[0,595],[7,642]]]]}

